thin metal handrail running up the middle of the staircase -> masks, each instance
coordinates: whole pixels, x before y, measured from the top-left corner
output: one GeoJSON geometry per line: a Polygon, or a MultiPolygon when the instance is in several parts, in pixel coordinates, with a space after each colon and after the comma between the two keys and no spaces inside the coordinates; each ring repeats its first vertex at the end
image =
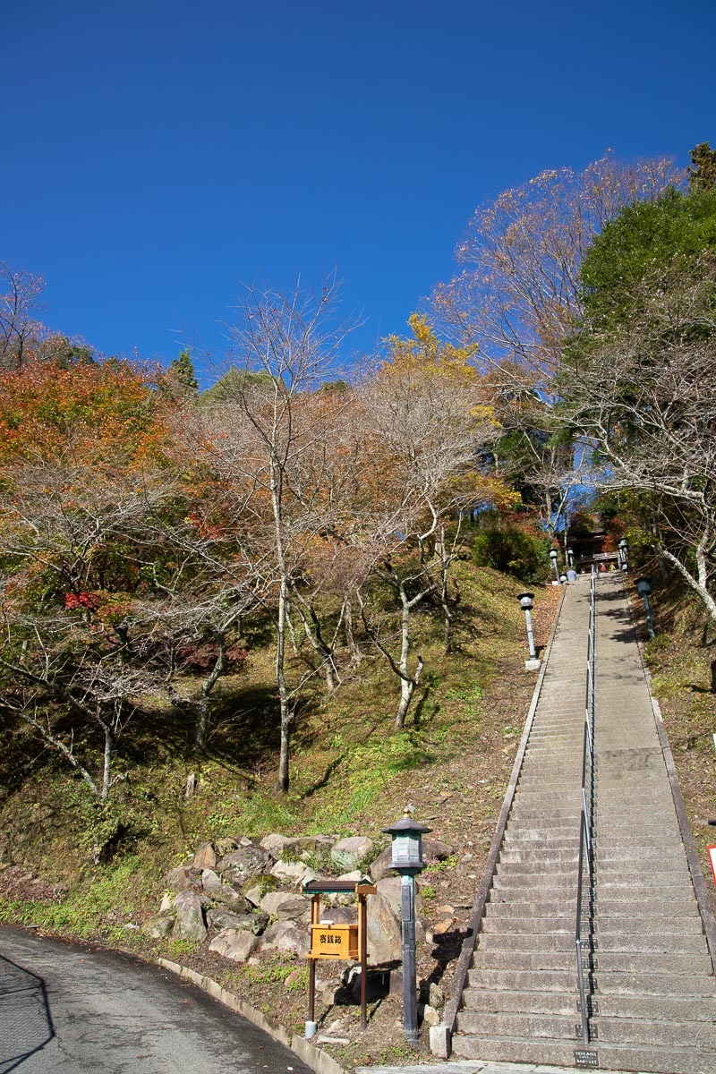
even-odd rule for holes
{"type": "MultiPolygon", "coordinates": [[[[595,768],[595,713],[597,703],[597,575],[591,570],[589,583],[589,629],[587,636],[587,670],[584,698],[584,737],[582,740],[582,812],[580,816],[580,857],[576,879],[576,927],[574,945],[576,948],[576,979],[580,989],[580,1013],[582,1015],[582,1039],[589,1043],[589,1000],[584,979],[584,970],[591,966],[590,957],[584,958],[585,948],[591,953],[591,932],[582,935],[582,894],[585,866],[590,895],[594,895],[594,768],[595,768]],[[588,966],[585,967],[584,962],[588,966]]],[[[589,908],[591,918],[591,906],[589,908]]],[[[579,1027],[578,1027],[579,1029],[579,1027]]]]}

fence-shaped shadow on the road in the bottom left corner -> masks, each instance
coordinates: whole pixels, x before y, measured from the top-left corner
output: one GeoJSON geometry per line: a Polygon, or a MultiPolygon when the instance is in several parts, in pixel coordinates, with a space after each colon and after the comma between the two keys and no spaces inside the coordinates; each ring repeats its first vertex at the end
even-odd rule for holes
{"type": "Polygon", "coordinates": [[[0,955],[0,1074],[14,1071],[55,1036],[42,977],[0,955]]]}

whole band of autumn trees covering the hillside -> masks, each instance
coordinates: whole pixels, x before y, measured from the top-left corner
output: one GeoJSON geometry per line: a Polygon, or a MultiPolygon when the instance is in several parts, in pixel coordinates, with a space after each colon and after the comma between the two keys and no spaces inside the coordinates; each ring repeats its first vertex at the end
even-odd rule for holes
{"type": "Polygon", "coordinates": [[[196,765],[229,726],[243,765],[258,736],[287,794],[306,710],[371,688],[376,662],[390,753],[461,666],[468,562],[539,580],[580,511],[716,622],[715,246],[705,143],[688,177],[544,173],[478,211],[458,274],[375,360],[340,368],[335,280],[247,289],[204,392],[188,352],[149,368],[47,332],[40,281],[5,266],[9,785],[55,758],[99,859],[130,838],[140,727],[196,765]]]}

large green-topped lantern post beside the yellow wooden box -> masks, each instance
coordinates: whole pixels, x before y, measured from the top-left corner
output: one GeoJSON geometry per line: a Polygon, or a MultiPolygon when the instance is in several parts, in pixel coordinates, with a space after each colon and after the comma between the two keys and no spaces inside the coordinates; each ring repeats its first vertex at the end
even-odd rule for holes
{"type": "Polygon", "coordinates": [[[383,828],[393,840],[391,869],[400,876],[403,935],[403,1032],[408,1044],[418,1047],[418,993],[415,975],[415,875],[422,872],[423,836],[432,828],[418,824],[406,810],[403,818],[383,828]]]}

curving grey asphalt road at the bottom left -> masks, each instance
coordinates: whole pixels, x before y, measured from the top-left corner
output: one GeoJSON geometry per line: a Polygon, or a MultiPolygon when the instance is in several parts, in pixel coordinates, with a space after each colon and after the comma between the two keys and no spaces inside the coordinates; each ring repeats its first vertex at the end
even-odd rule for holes
{"type": "Polygon", "coordinates": [[[0,929],[0,1074],[311,1074],[173,973],[0,929]]]}

